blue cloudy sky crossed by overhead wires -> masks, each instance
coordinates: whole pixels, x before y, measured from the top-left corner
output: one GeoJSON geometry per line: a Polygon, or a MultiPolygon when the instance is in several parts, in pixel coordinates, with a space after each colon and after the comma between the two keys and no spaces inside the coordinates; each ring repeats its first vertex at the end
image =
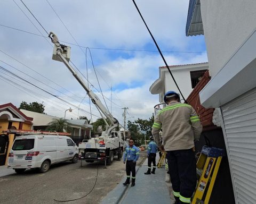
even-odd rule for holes
{"type": "MultiPolygon", "coordinates": [[[[154,105],[158,103],[158,96],[151,95],[149,87],[158,79],[158,67],[164,66],[164,62],[158,52],[153,52],[157,49],[132,1],[23,2],[47,32],[55,32],[59,40],[75,45],[77,42],[83,47],[91,48],[94,67],[88,50],[86,56],[86,49],[75,45],[69,45],[71,61],[86,78],[88,72],[89,81],[93,85],[90,88],[101,97],[95,77],[95,72],[97,73],[103,95],[108,98],[107,106],[121,124],[122,107],[129,107],[128,117],[134,117],[132,119],[151,116],[154,105]],[[110,99],[113,101],[112,104],[110,99]]],[[[169,65],[207,62],[204,36],[185,35],[188,0],[135,2],[161,50],[169,51],[163,52],[169,65]]],[[[71,107],[74,111],[67,113],[67,118],[77,118],[79,115],[90,118],[89,98],[86,92],[65,65],[51,60],[52,44],[49,39],[44,38],[47,37],[46,32],[22,2],[2,1],[0,19],[0,65],[51,92],[52,95],[58,95],[68,101],[63,102],[0,70],[0,87],[1,91],[5,92],[0,98],[0,104],[13,103],[19,107],[22,100],[28,103],[38,101],[44,103],[45,112],[49,115],[63,117],[65,110],[71,107]],[[3,25],[44,37],[6,28],[3,25]],[[13,82],[17,82],[18,85],[13,82]],[[78,111],[78,108],[81,109],[78,111]]],[[[92,112],[96,116],[100,115],[95,107],[92,107],[92,112]]],[[[93,116],[93,120],[96,116],[93,116]]]]}

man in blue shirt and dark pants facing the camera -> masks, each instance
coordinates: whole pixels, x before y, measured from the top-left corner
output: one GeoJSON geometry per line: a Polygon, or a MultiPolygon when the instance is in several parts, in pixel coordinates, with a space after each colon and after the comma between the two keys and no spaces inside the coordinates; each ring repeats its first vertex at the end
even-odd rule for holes
{"type": "Polygon", "coordinates": [[[131,186],[135,185],[135,166],[136,162],[139,158],[140,152],[139,149],[134,145],[133,139],[129,140],[129,146],[125,148],[124,151],[124,164],[126,160],[126,181],[123,183],[123,185],[130,184],[130,177],[132,172],[132,184],[131,186]]]}

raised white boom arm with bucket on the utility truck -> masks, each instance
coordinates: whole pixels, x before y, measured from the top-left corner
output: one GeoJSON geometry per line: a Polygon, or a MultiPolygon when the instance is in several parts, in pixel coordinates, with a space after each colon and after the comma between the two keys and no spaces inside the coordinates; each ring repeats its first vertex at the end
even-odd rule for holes
{"type": "Polygon", "coordinates": [[[53,50],[53,57],[52,57],[52,59],[60,61],[60,62],[63,62],[68,67],[69,71],[74,75],[76,80],[85,89],[85,91],[87,92],[87,95],[91,98],[92,103],[97,107],[97,109],[99,110],[101,116],[103,114],[103,115],[105,115],[109,119],[109,121],[111,123],[110,126],[107,123],[107,121],[105,120],[105,118],[102,116],[103,120],[107,124],[106,131],[102,132],[102,135],[108,136],[110,134],[111,130],[113,130],[116,127],[118,127],[118,125],[119,125],[118,121],[116,120],[116,118],[114,118],[109,113],[107,108],[101,103],[101,101],[98,98],[98,96],[94,94],[94,92],[87,86],[86,82],[81,77],[79,77],[79,75],[74,70],[74,68],[69,64],[70,47],[68,47],[66,45],[61,45],[59,43],[58,37],[53,32],[50,32],[49,37],[51,38],[52,43],[54,44],[54,50],[53,50]]]}

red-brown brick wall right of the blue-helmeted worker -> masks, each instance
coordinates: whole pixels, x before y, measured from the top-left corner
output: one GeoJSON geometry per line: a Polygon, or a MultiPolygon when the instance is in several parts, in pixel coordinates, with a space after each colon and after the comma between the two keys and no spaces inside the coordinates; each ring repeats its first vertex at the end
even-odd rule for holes
{"type": "Polygon", "coordinates": [[[194,90],[187,98],[187,103],[191,105],[196,113],[199,115],[200,121],[203,125],[203,130],[212,130],[217,128],[212,123],[212,115],[214,108],[204,108],[201,106],[199,92],[204,88],[204,86],[210,81],[209,71],[206,71],[202,77],[202,79],[198,82],[194,90]]]}

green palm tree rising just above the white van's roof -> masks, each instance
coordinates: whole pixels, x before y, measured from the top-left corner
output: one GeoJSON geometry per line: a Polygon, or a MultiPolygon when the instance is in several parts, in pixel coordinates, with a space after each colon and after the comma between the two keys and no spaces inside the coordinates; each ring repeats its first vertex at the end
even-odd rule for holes
{"type": "Polygon", "coordinates": [[[56,132],[72,132],[72,128],[69,126],[70,124],[67,122],[66,119],[54,118],[50,123],[48,123],[46,130],[56,131],[56,132]]]}

